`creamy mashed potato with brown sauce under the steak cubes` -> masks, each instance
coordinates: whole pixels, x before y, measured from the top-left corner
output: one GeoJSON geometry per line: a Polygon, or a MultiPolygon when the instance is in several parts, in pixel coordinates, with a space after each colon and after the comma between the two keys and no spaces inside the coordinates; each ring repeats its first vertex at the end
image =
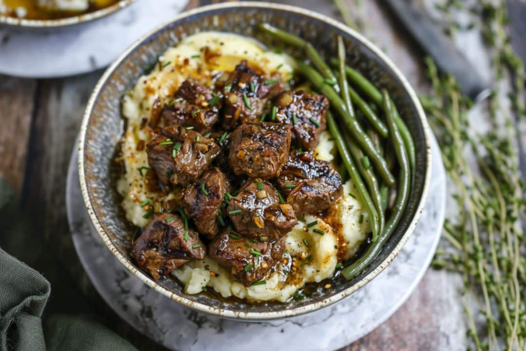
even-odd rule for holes
{"type": "MultiPolygon", "coordinates": [[[[144,126],[155,100],[160,98],[161,102],[166,102],[187,77],[209,84],[211,77],[220,71],[233,70],[242,59],[268,74],[279,72],[285,81],[294,71],[289,57],[264,51],[251,39],[223,33],[199,33],[168,49],[159,57],[153,71],[140,77],[126,94],[123,115],[127,128],[122,139],[126,172],[119,179],[117,190],[124,198],[122,206],[131,223],[139,227],[148,224],[149,218],[143,217],[145,209],[140,206],[145,200],[151,200],[158,211],[176,199],[174,194],[166,196],[149,190],[148,179],[144,177],[148,170],[147,155],[138,146],[147,143],[152,133],[147,126],[141,128],[141,124],[144,126]],[[205,59],[207,53],[217,55],[210,62],[205,59]]],[[[323,132],[314,151],[315,157],[333,162],[334,153],[330,133],[323,132]]],[[[355,254],[369,231],[367,211],[356,199],[353,185],[347,182],[343,185],[343,196],[329,209],[326,218],[311,215],[299,218],[298,224],[286,235],[282,262],[267,275],[265,285],[245,287],[232,278],[229,270],[209,257],[189,262],[172,274],[184,284],[188,294],[197,294],[210,287],[224,297],[285,302],[306,283],[331,278],[338,261],[355,254]],[[316,225],[307,227],[316,221],[316,225]]]]}

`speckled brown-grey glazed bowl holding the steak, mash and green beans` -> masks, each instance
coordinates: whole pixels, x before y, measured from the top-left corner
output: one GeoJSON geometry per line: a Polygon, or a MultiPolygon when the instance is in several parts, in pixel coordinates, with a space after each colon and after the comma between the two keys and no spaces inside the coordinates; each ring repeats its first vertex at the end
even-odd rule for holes
{"type": "Polygon", "coordinates": [[[351,295],[396,257],[417,224],[427,194],[431,169],[429,138],[426,117],[407,79],[380,49],[360,34],[306,9],[260,2],[225,3],[181,14],[173,22],[139,39],[107,69],[89,100],[80,129],[80,186],[89,216],[104,243],[126,268],[151,288],[177,303],[222,317],[245,320],[283,318],[317,310],[351,295]],[[158,54],[182,38],[196,32],[233,32],[264,42],[264,37],[256,29],[260,22],[269,22],[304,37],[327,57],[336,56],[336,36],[342,35],[348,63],[357,67],[375,85],[389,90],[412,133],[417,151],[417,172],[409,204],[379,256],[355,279],[347,281],[337,277],[331,288],[322,288],[326,284],[323,282],[310,289],[312,294],[301,302],[285,304],[225,302],[206,295],[187,295],[172,280],[154,282],[137,268],[129,255],[130,229],[110,182],[114,150],[124,125],[120,101],[143,74],[143,67],[155,62],[158,54]]]}

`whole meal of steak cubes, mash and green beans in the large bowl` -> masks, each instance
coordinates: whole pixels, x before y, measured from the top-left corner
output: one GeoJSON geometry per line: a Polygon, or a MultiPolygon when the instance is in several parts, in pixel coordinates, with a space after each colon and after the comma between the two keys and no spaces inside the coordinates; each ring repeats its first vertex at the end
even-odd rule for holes
{"type": "Polygon", "coordinates": [[[131,253],[150,277],[175,277],[187,294],[301,298],[307,283],[332,279],[355,260],[369,237],[359,262],[343,269],[352,278],[407,203],[404,142],[412,141],[402,140],[405,125],[388,95],[369,105],[349,94],[345,66],[338,84],[310,44],[261,28],[305,49],[325,78],[251,38],[203,32],[159,56],[123,99],[117,189],[140,228],[131,253]],[[383,148],[391,144],[388,164],[383,148]]]}

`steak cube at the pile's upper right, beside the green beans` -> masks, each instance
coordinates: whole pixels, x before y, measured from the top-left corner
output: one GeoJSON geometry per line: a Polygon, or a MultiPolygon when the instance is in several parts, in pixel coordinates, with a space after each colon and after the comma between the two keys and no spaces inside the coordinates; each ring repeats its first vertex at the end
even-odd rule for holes
{"type": "Polygon", "coordinates": [[[327,124],[327,98],[302,91],[288,91],[278,96],[277,107],[276,119],[292,126],[295,143],[307,150],[315,148],[327,124]]]}

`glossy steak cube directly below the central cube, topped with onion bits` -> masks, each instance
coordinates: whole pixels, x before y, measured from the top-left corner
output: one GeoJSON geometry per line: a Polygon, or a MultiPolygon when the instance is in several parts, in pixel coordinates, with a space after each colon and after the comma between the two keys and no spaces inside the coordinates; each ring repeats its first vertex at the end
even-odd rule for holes
{"type": "Polygon", "coordinates": [[[228,214],[236,231],[262,242],[277,240],[298,223],[292,206],[281,203],[278,191],[262,179],[248,179],[230,199],[228,214]]]}

